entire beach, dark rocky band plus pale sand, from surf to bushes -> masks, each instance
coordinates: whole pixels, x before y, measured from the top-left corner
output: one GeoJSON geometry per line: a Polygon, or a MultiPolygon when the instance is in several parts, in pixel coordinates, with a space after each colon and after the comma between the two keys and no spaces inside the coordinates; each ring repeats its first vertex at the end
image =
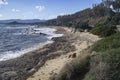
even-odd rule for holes
{"type": "Polygon", "coordinates": [[[0,80],[49,80],[81,51],[100,38],[88,32],[72,33],[68,28],[52,27],[62,37],[15,59],[0,62],[0,80]],[[73,56],[73,57],[70,57],[73,56]]]}

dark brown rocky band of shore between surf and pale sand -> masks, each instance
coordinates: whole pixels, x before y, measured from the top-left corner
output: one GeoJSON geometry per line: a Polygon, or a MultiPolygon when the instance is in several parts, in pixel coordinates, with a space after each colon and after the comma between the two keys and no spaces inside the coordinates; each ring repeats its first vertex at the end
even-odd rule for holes
{"type": "Polygon", "coordinates": [[[26,80],[42,67],[47,60],[75,50],[75,47],[68,40],[70,36],[66,36],[64,29],[58,28],[56,33],[63,33],[64,36],[53,38],[53,43],[21,57],[0,62],[0,80],[26,80]],[[56,53],[58,50],[62,50],[62,52],[56,53]]]}

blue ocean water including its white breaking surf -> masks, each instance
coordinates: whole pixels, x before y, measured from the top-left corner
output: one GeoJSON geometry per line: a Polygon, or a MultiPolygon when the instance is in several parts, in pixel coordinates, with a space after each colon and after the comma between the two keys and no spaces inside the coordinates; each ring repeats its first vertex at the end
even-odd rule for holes
{"type": "Polygon", "coordinates": [[[19,57],[41,45],[52,43],[52,37],[62,36],[54,31],[55,29],[36,25],[0,25],[0,61],[19,57]]]}

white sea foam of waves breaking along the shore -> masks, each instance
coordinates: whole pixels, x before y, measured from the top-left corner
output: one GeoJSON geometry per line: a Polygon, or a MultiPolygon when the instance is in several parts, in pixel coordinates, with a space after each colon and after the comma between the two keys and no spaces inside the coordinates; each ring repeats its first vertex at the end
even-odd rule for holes
{"type": "MultiPolygon", "coordinates": [[[[46,41],[45,43],[40,43],[38,45],[34,45],[33,47],[30,47],[28,49],[23,49],[23,50],[15,51],[15,52],[13,52],[13,51],[4,52],[4,53],[0,54],[0,61],[5,61],[5,60],[17,58],[17,57],[19,57],[19,56],[21,56],[21,55],[23,55],[25,53],[28,53],[30,51],[38,49],[40,46],[52,43],[53,41],[51,41],[51,39],[53,37],[61,37],[61,36],[63,36],[63,34],[55,34],[56,29],[53,29],[53,28],[47,28],[47,27],[35,28],[33,26],[32,26],[32,28],[36,31],[36,33],[47,34],[46,37],[48,38],[48,41],[46,41]]],[[[18,34],[20,35],[20,33],[18,33],[18,34]]]]}

